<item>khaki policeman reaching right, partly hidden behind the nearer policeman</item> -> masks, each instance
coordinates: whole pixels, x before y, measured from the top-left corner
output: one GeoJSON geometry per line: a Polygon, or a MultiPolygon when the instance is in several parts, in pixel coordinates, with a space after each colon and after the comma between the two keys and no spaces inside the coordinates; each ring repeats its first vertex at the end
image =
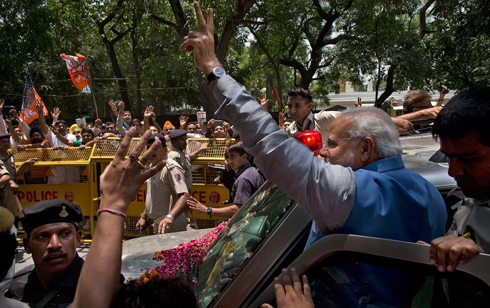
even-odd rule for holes
{"type": "Polygon", "coordinates": [[[172,150],[169,152],[169,157],[175,160],[184,170],[187,190],[190,193],[192,190],[191,161],[194,160],[197,155],[206,152],[208,144],[202,143],[196,151],[187,155],[184,153],[187,147],[187,132],[184,130],[176,130],[171,132],[169,137],[172,142],[172,150]]]}

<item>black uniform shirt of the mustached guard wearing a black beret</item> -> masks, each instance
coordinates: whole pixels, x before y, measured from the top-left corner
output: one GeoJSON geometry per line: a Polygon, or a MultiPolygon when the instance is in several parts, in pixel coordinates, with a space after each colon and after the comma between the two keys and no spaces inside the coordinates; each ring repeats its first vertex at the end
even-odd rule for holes
{"type": "MultiPolygon", "coordinates": [[[[76,285],[82,270],[83,259],[75,255],[72,264],[61,274],[52,287],[57,287],[58,292],[49,300],[44,307],[64,308],[71,305],[75,298],[76,285]]],[[[12,281],[6,296],[28,303],[35,307],[49,292],[45,290],[37,277],[36,270],[17,277],[12,281]]]]}

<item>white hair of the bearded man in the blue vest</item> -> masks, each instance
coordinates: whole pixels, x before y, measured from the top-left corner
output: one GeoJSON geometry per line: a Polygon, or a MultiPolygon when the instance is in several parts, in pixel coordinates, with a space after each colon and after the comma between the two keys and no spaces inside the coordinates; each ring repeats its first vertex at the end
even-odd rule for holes
{"type": "Polygon", "coordinates": [[[352,126],[347,129],[349,137],[371,137],[379,159],[402,154],[398,130],[388,113],[375,107],[358,107],[346,109],[342,114],[352,120],[352,126]]]}

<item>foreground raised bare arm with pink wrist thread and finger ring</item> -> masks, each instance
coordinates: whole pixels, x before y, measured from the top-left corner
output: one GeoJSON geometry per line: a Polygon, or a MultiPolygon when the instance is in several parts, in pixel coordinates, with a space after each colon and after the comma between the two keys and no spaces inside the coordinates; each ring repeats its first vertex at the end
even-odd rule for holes
{"type": "MultiPolygon", "coordinates": [[[[136,196],[143,183],[165,166],[165,161],[143,172],[137,160],[125,158],[132,137],[137,137],[135,128],[130,128],[118,148],[116,156],[100,176],[100,210],[97,227],[89,252],[78,279],[72,307],[110,307],[116,297],[121,273],[124,213],[129,202],[136,196]]],[[[146,131],[132,154],[137,157],[145,149],[151,132],[146,131]]],[[[159,140],[142,155],[147,161],[161,147],[159,140]]]]}

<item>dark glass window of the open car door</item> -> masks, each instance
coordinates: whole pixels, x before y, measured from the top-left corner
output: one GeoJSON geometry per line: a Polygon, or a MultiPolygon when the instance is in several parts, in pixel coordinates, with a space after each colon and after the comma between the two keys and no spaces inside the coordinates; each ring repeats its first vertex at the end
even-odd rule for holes
{"type": "Polygon", "coordinates": [[[331,254],[305,273],[315,307],[485,307],[490,287],[465,272],[353,252],[331,254]],[[451,303],[451,304],[449,304],[451,303]]]}

